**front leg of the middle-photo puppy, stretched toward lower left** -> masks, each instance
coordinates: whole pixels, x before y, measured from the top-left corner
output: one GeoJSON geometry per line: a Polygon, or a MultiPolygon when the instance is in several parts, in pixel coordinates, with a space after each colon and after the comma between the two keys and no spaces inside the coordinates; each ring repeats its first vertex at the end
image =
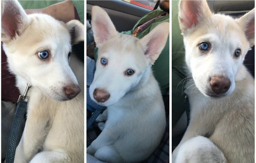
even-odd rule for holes
{"type": "Polygon", "coordinates": [[[92,144],[87,147],[87,153],[93,156],[100,147],[110,145],[117,141],[119,135],[116,129],[114,130],[105,127],[100,135],[92,142],[92,144]]]}

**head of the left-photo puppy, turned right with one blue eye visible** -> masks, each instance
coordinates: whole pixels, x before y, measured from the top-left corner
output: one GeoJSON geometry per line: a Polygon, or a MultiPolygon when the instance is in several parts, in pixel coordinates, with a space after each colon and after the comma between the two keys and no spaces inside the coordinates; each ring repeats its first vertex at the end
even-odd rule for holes
{"type": "Polygon", "coordinates": [[[10,71],[54,100],[80,92],[68,60],[71,44],[81,36],[78,21],[65,24],[44,14],[26,15],[17,1],[2,1],[1,38],[10,71]]]}

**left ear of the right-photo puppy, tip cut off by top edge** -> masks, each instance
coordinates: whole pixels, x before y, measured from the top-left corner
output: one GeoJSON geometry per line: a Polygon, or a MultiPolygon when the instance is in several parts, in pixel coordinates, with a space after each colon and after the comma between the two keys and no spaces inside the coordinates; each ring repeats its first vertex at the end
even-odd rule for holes
{"type": "Polygon", "coordinates": [[[213,14],[208,7],[206,0],[187,1],[182,0],[179,3],[179,24],[182,34],[188,29],[196,26],[205,17],[213,14]]]}

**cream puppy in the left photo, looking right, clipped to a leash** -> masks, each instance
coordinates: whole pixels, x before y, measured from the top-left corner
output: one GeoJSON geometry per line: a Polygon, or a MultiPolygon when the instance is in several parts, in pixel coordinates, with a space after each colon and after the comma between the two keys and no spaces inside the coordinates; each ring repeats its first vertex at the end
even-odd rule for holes
{"type": "Polygon", "coordinates": [[[83,63],[69,54],[71,44],[83,41],[84,25],[26,15],[17,1],[2,1],[1,38],[16,86],[23,94],[32,85],[14,162],[84,162],[84,84],[68,63],[83,73],[83,63]]]}

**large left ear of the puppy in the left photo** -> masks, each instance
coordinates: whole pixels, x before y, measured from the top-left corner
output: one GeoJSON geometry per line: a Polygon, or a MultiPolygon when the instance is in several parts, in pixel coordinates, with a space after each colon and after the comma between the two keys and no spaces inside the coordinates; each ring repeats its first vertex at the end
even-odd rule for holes
{"type": "Polygon", "coordinates": [[[29,17],[18,1],[1,1],[1,5],[1,39],[7,43],[24,32],[29,17]]]}

